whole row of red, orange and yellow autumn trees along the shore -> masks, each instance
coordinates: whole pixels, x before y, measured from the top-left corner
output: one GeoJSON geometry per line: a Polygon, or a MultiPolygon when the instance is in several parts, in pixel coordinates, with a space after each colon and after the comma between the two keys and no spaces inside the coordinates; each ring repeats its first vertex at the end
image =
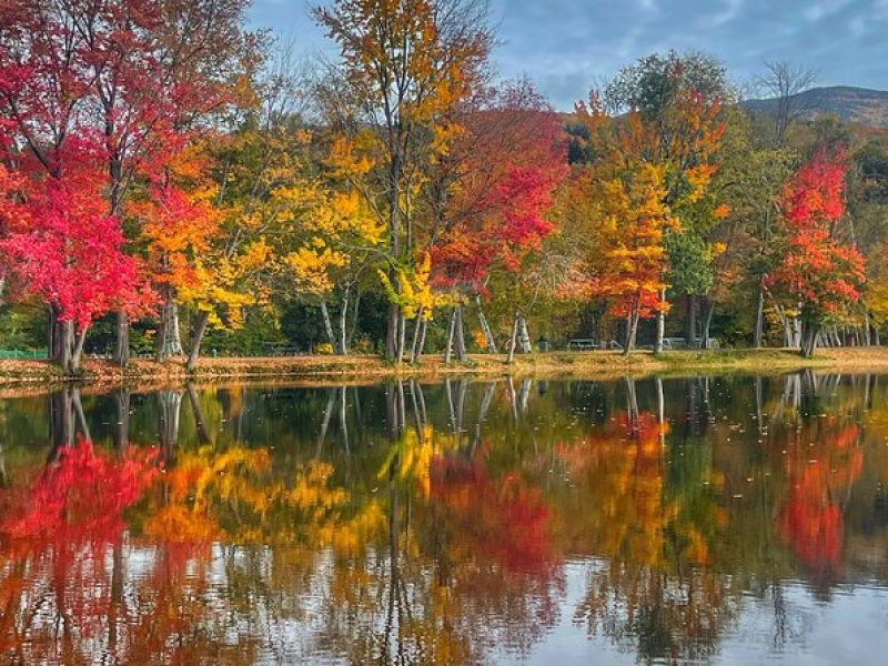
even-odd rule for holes
{"type": "Polygon", "coordinates": [[[871,344],[888,138],[655,54],[556,113],[481,0],[333,1],[309,71],[245,0],[0,8],[0,346],[529,352],[871,344]]]}

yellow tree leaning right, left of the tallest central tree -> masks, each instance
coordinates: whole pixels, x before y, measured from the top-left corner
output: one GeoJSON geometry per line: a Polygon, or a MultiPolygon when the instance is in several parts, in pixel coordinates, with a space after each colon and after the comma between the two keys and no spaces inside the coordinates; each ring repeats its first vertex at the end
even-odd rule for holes
{"type": "Polygon", "coordinates": [[[200,258],[202,280],[180,296],[196,310],[188,367],[193,370],[208,325],[239,326],[248,305],[270,305],[270,280],[278,272],[280,246],[319,201],[312,173],[311,134],[272,88],[238,131],[211,149],[210,170],[221,216],[220,232],[200,258]]]}

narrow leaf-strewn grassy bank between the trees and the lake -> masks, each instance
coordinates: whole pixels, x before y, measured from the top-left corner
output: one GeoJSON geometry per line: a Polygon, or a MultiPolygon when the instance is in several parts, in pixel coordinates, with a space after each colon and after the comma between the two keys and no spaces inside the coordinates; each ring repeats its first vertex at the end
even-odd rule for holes
{"type": "Polygon", "coordinates": [[[495,375],[583,375],[585,377],[625,374],[686,374],[689,372],[787,372],[805,367],[840,372],[888,372],[888,347],[845,347],[820,350],[814,359],[803,359],[791,350],[712,350],[634,352],[624,357],[616,352],[548,352],[517,355],[512,365],[505,356],[475,354],[465,363],[444,364],[430,355],[416,365],[394,365],[376,356],[286,356],[203,359],[189,375],[181,360],[165,363],[137,360],[127,369],[108,361],[87,360],[83,372],[71,376],[47,361],[0,360],[0,385],[201,383],[229,380],[273,381],[375,381],[395,377],[440,379],[445,376],[495,375]]]}

